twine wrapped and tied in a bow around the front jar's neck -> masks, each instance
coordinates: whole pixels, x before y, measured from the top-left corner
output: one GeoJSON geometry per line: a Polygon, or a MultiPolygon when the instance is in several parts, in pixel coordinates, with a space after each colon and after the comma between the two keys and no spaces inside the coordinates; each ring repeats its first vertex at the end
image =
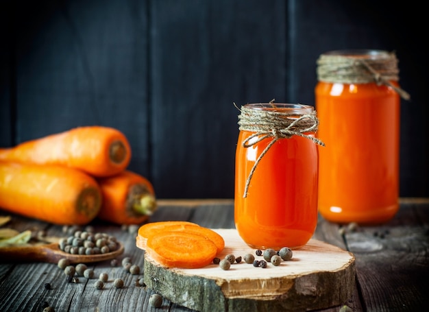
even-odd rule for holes
{"type": "MultiPolygon", "coordinates": [[[[270,104],[272,104],[272,102],[270,102],[270,104]]],[[[238,115],[238,129],[240,131],[254,132],[254,134],[250,135],[243,141],[243,147],[252,147],[260,141],[272,138],[271,142],[256,159],[256,162],[247,177],[243,194],[244,198],[247,197],[250,180],[252,180],[252,176],[256,167],[258,167],[258,163],[262,157],[267,154],[271,146],[273,146],[273,144],[278,140],[289,139],[291,136],[297,135],[310,139],[318,145],[325,146],[321,140],[306,134],[306,132],[317,132],[319,119],[317,119],[315,111],[312,111],[310,114],[303,115],[298,114],[296,111],[285,112],[281,109],[276,110],[274,104],[272,104],[273,109],[266,109],[266,106],[265,109],[258,109],[254,106],[252,108],[246,106],[238,108],[235,104],[234,106],[241,112],[240,115],[238,115]]]]}

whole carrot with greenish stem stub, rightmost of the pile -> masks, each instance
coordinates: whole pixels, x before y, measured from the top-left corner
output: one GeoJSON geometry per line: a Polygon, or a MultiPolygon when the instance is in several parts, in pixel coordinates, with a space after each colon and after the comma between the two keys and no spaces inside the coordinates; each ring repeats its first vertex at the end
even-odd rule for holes
{"type": "Polygon", "coordinates": [[[99,219],[115,224],[142,224],[156,211],[154,187],[147,178],[125,170],[97,181],[103,195],[99,219]]]}

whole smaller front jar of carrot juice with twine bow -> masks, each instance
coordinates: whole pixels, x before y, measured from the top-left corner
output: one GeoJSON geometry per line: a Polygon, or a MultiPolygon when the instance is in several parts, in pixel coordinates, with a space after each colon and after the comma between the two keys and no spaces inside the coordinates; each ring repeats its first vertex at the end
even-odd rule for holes
{"type": "Polygon", "coordinates": [[[234,220],[252,248],[298,248],[317,226],[319,121],[312,106],[246,104],[238,116],[234,220]]]}

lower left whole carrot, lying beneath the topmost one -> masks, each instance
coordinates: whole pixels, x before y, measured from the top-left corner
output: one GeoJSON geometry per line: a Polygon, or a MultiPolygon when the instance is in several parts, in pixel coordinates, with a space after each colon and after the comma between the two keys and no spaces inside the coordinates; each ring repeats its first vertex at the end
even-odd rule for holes
{"type": "Polygon", "coordinates": [[[95,179],[77,169],[0,161],[0,208],[60,225],[84,225],[101,207],[95,179]]]}

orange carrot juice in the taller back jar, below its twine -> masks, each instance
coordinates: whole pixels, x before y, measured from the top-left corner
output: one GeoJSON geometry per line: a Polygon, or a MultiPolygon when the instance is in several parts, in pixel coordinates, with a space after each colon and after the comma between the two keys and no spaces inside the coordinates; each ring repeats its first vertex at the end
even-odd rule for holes
{"type": "Polygon", "coordinates": [[[339,223],[388,221],[399,208],[399,96],[388,86],[319,82],[316,97],[326,144],[321,215],[339,223]]]}

